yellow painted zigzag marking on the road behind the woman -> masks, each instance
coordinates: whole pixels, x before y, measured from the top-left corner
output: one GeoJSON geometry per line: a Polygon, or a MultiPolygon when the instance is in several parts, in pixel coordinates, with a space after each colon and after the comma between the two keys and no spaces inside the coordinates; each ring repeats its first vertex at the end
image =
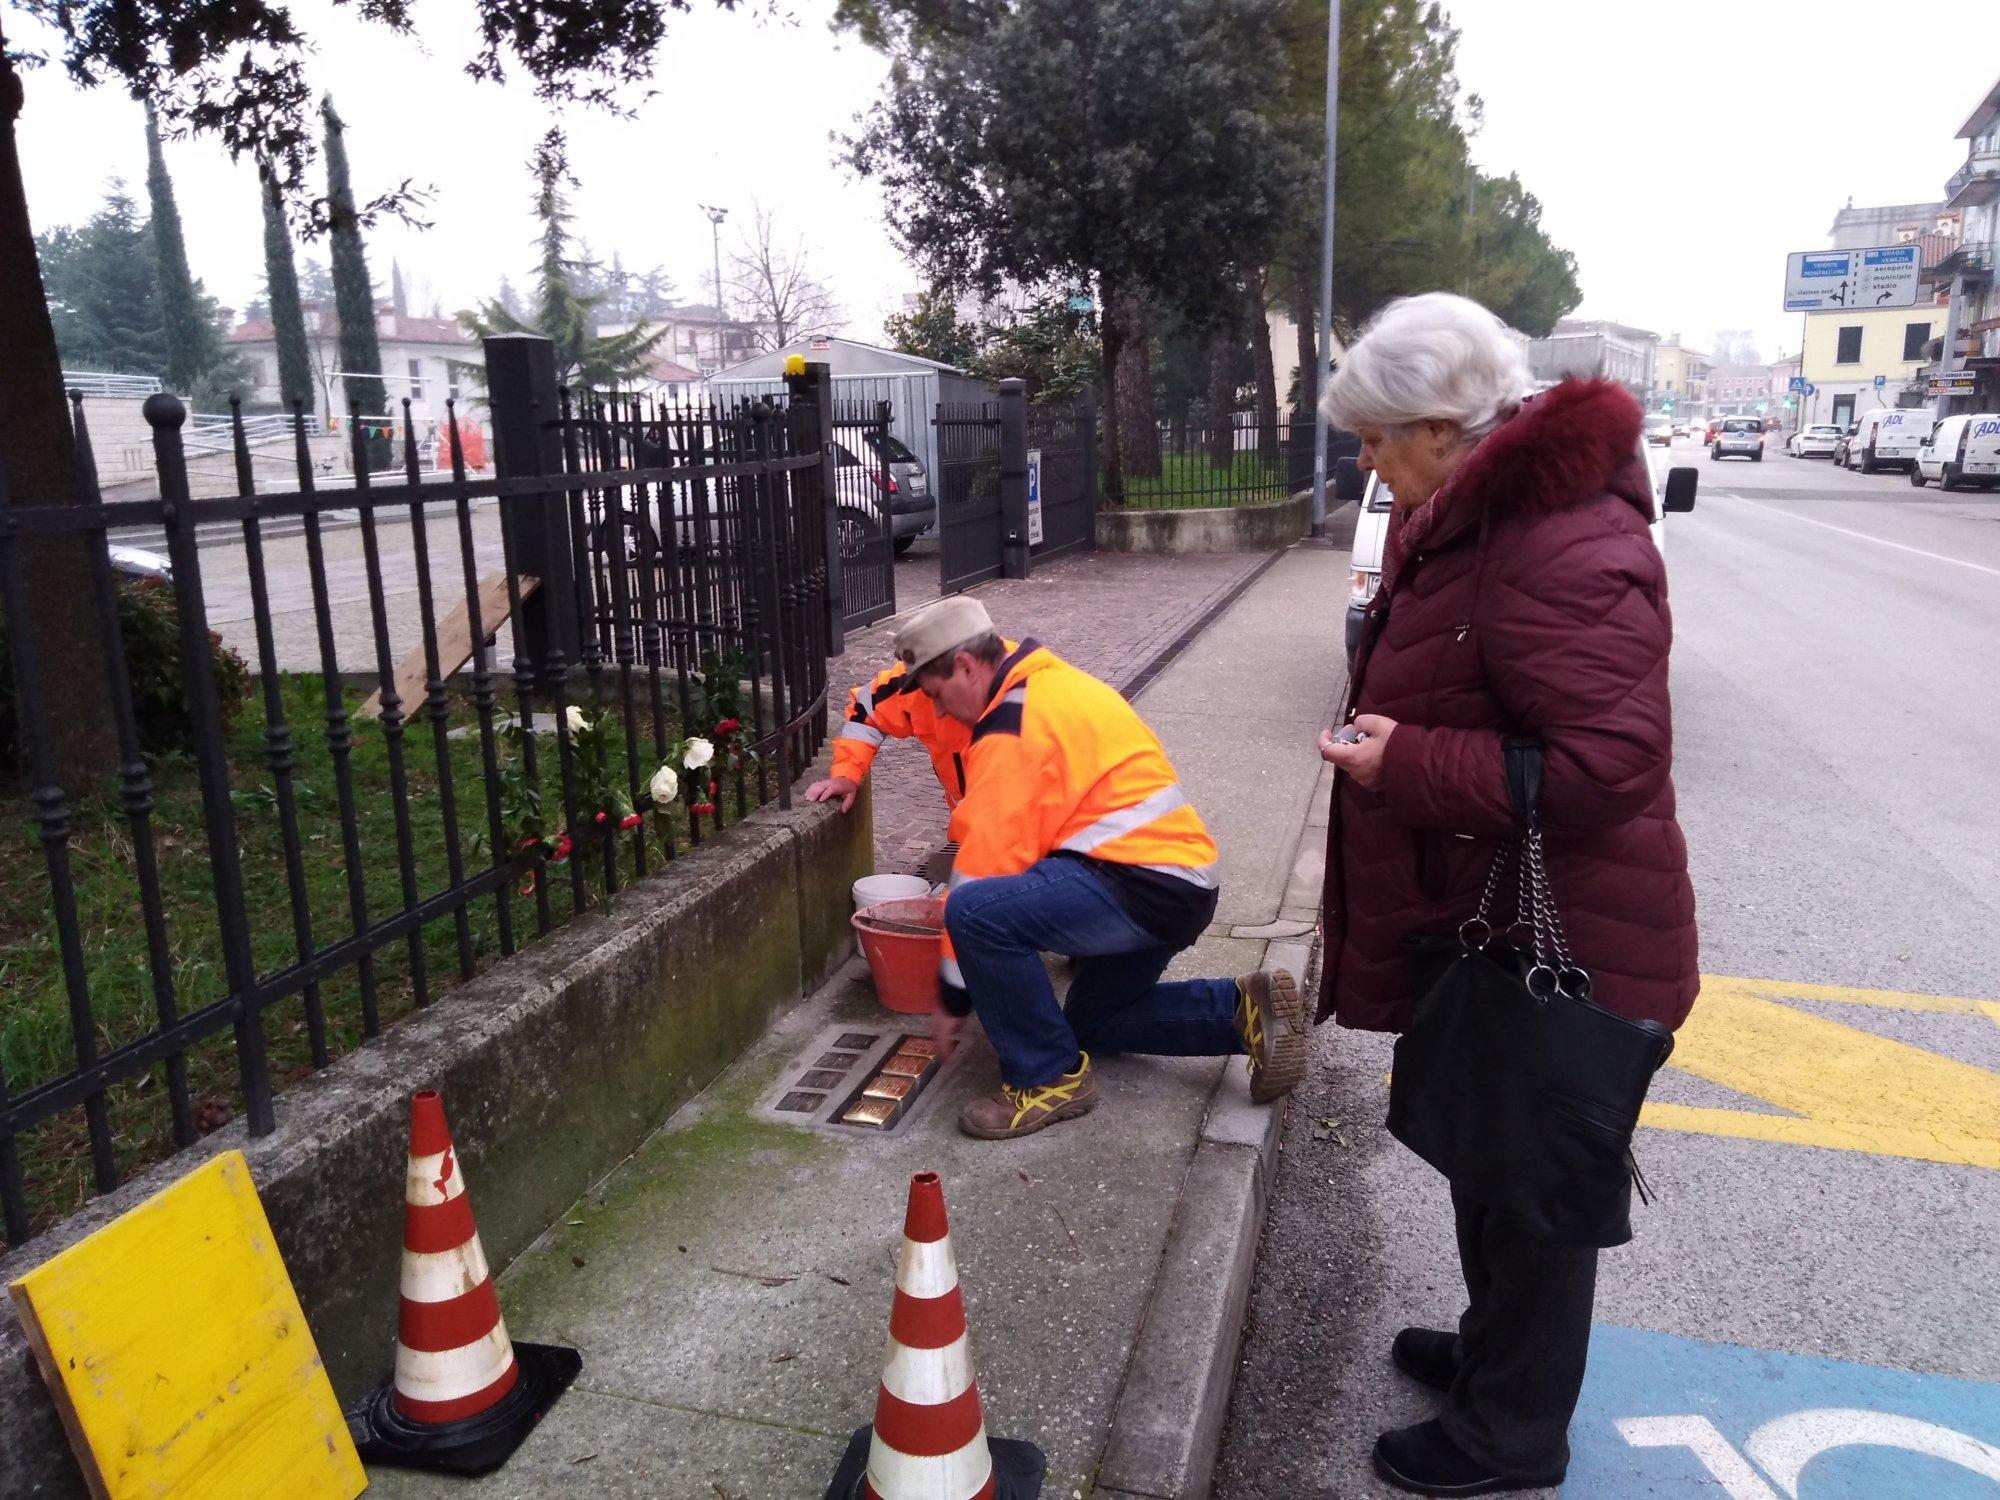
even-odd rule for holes
{"type": "Polygon", "coordinates": [[[1992,1000],[1704,976],[1670,1066],[1786,1114],[1656,1102],[1640,1124],[2000,1168],[2000,1074],[1766,996],[2000,1020],[1992,1000]]]}

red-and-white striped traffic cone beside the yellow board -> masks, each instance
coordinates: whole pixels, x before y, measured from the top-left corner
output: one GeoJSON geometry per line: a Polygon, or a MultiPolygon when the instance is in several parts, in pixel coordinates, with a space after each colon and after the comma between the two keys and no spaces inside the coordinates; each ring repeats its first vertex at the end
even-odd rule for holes
{"type": "Polygon", "coordinates": [[[410,1100],[396,1376],[348,1414],[362,1460],[500,1468],[582,1368],[572,1348],[508,1338],[444,1100],[422,1090],[410,1100]]]}

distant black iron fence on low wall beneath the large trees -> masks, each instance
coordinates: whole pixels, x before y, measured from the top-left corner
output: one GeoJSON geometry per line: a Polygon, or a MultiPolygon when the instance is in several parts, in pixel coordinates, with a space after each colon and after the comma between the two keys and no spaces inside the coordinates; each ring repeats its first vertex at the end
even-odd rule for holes
{"type": "Polygon", "coordinates": [[[1162,422],[1154,434],[1124,436],[1122,490],[1112,504],[1158,510],[1254,506],[1312,484],[1312,420],[1300,412],[1262,422],[1236,412],[1228,422],[1162,422]],[[1158,464],[1154,464],[1158,444],[1158,464]],[[1300,484],[1304,472],[1304,484],[1300,484]]]}

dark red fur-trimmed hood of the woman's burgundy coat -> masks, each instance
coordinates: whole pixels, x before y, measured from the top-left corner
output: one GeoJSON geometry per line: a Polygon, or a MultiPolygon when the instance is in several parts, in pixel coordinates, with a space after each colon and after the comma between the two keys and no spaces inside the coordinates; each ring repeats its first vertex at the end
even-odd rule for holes
{"type": "Polygon", "coordinates": [[[1480,512],[1548,514],[1610,492],[1652,520],[1652,486],[1638,458],[1642,414],[1614,380],[1564,380],[1522,402],[1466,458],[1432,542],[1480,512]]]}

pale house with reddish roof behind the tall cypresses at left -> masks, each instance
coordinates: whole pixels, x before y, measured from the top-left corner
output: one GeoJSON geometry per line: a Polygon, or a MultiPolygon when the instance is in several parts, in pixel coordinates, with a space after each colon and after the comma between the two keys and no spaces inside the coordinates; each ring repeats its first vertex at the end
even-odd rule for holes
{"type": "MultiPolygon", "coordinates": [[[[332,308],[306,312],[306,354],[312,362],[314,410],[346,416],[340,382],[340,322],[332,308]]],[[[444,402],[464,394],[466,370],[486,368],[486,352],[452,318],[404,318],[386,306],[376,310],[376,338],[382,344],[382,386],[390,410],[410,398],[410,416],[420,422],[444,420],[444,402]]],[[[250,386],[244,410],[282,410],[278,388],[278,334],[268,318],[242,322],[230,330],[230,350],[244,356],[250,386]]],[[[478,386],[474,384],[474,390],[478,386]]]]}

